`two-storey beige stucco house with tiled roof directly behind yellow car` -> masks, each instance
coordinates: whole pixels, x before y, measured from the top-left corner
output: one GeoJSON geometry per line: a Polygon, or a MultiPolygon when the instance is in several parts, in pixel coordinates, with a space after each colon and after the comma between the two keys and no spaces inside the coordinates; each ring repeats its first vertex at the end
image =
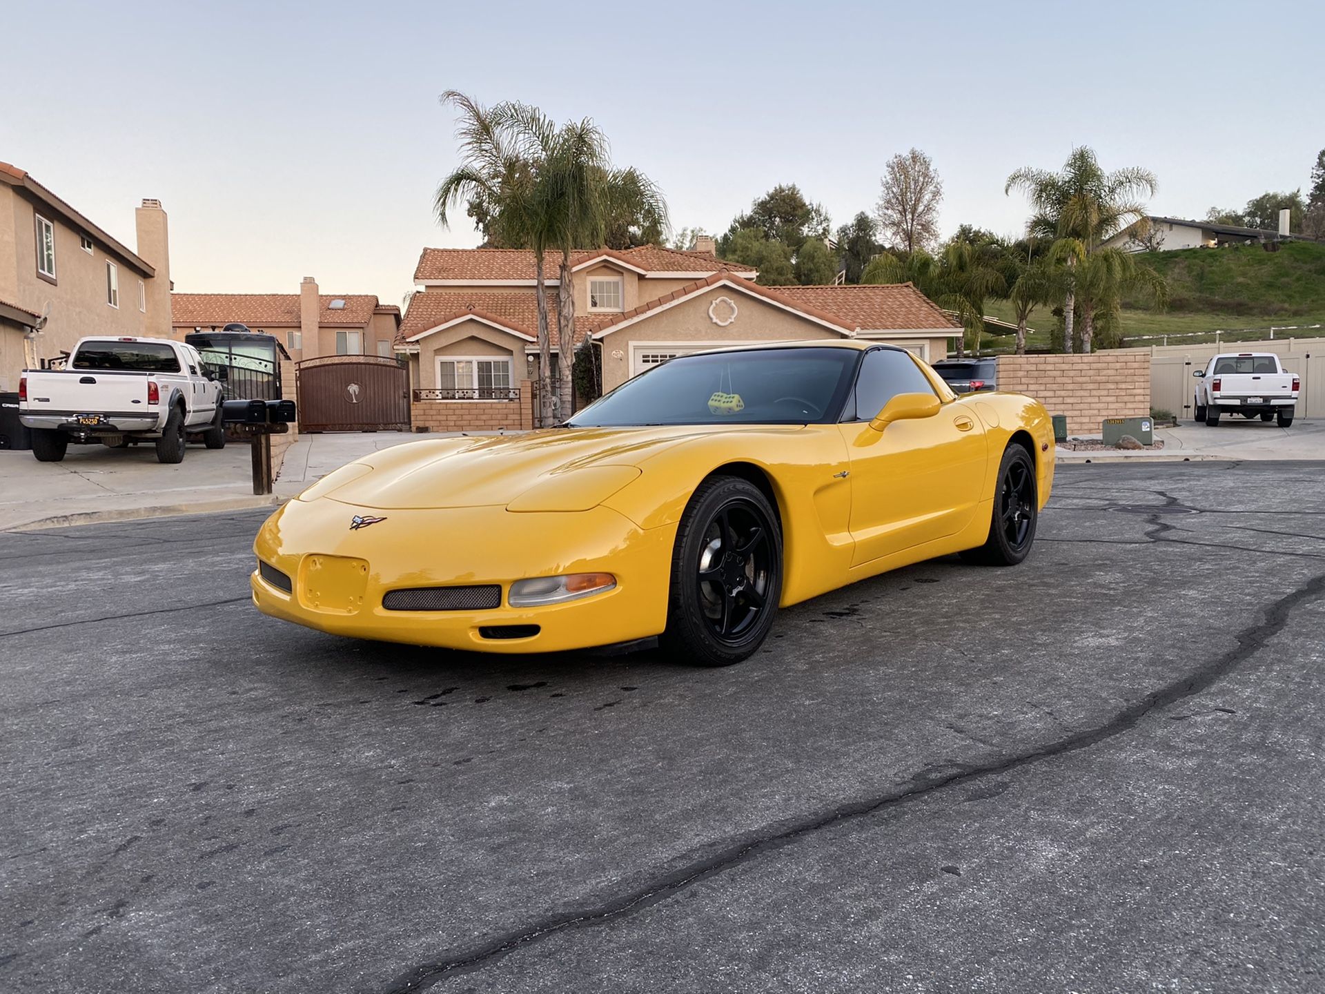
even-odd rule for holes
{"type": "MultiPolygon", "coordinates": [[[[556,347],[556,269],[547,306],[556,347]]],[[[676,355],[723,345],[876,338],[925,359],[959,326],[910,284],[761,286],[712,252],[656,245],[572,257],[575,341],[599,350],[603,390],[676,355]]],[[[531,427],[538,379],[534,257],[521,249],[424,249],[396,350],[408,355],[416,428],[531,427]]],[[[553,358],[554,370],[556,357],[553,358]]]]}

